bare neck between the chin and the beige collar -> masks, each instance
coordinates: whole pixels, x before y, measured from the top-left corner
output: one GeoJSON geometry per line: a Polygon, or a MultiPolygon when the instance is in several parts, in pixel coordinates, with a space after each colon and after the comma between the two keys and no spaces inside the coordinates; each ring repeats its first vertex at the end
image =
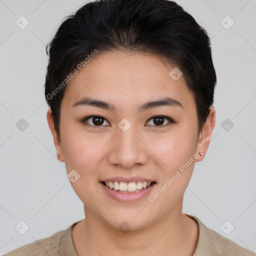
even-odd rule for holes
{"type": "Polygon", "coordinates": [[[181,213],[169,211],[158,221],[137,230],[119,230],[84,208],[86,218],[72,229],[78,256],[81,255],[189,255],[197,244],[198,226],[181,213]]]}

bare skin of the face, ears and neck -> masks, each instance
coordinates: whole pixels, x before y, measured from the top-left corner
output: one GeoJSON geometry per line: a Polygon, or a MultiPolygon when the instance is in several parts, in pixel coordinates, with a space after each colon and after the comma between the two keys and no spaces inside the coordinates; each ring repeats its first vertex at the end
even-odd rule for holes
{"type": "Polygon", "coordinates": [[[72,228],[72,239],[81,255],[192,255],[197,244],[197,223],[182,213],[183,193],[195,161],[204,158],[215,125],[215,109],[198,135],[196,106],[183,76],[174,80],[175,65],[163,57],[126,51],[99,52],[69,82],[60,106],[60,138],[56,135],[51,110],[47,121],[57,158],[67,173],[75,169],[80,177],[70,182],[84,204],[86,218],[72,228]],[[83,96],[104,100],[115,111],[96,106],[72,105],[83,96]],[[138,112],[138,107],[169,96],[179,106],[156,106],[138,112]],[[104,117],[101,126],[88,115],[104,117]],[[151,117],[165,115],[157,126],[151,117]],[[126,118],[131,127],[123,131],[118,123],[126,118]],[[150,119],[150,120],[149,120],[150,119]],[[94,126],[93,126],[94,125],[94,126]],[[201,151],[184,172],[158,197],[153,195],[189,157],[201,151]],[[112,176],[142,176],[155,180],[152,192],[133,202],[109,197],[99,181],[112,176]],[[128,222],[123,233],[118,226],[128,222]]]}

